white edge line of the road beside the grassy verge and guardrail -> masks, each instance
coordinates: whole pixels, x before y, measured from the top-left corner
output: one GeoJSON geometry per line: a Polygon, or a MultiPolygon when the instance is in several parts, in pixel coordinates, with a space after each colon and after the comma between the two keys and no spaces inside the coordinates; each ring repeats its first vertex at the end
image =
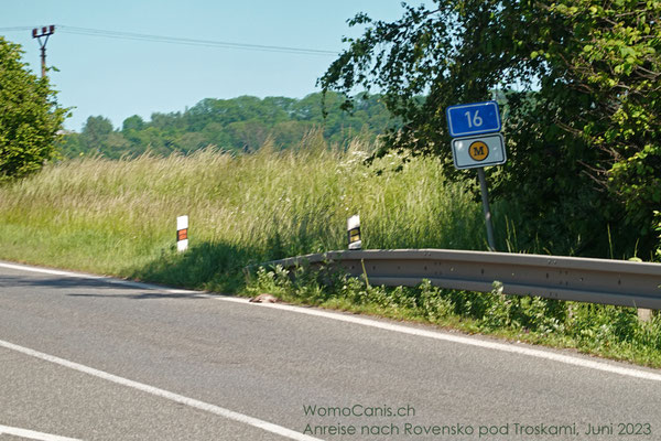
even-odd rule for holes
{"type": "Polygon", "coordinates": [[[105,280],[109,283],[122,284],[122,286],[128,286],[128,287],[136,287],[136,288],[142,288],[142,289],[151,289],[151,290],[161,290],[164,292],[177,293],[177,294],[178,293],[197,294],[201,297],[208,297],[210,299],[216,299],[216,300],[226,301],[226,302],[243,303],[243,304],[250,305],[250,306],[274,308],[274,309],[279,309],[282,311],[290,311],[290,312],[295,312],[299,314],[319,316],[319,318],[336,320],[336,321],[340,321],[340,322],[359,324],[362,326],[377,327],[377,329],[381,329],[381,330],[386,330],[386,331],[399,332],[402,334],[416,335],[416,336],[434,338],[434,340],[440,340],[440,341],[445,341],[445,342],[465,344],[468,346],[477,346],[477,347],[484,347],[484,348],[494,349],[494,351],[501,351],[501,352],[514,353],[514,354],[525,355],[525,356],[535,357],[535,358],[549,359],[549,361],[564,363],[564,364],[572,365],[572,366],[584,367],[587,369],[602,370],[602,372],[624,375],[624,376],[632,377],[632,378],[641,378],[641,379],[647,379],[647,380],[652,380],[652,381],[661,381],[661,374],[655,374],[655,373],[648,372],[648,370],[640,370],[640,369],[635,369],[631,367],[618,366],[615,364],[597,362],[594,359],[575,357],[575,356],[571,356],[571,355],[559,354],[559,353],[550,352],[550,351],[533,349],[530,347],[523,347],[523,346],[519,346],[519,345],[514,345],[514,344],[488,342],[488,341],[484,341],[484,340],[479,340],[479,338],[475,338],[475,337],[453,335],[453,334],[447,334],[447,333],[443,333],[443,332],[438,332],[438,331],[429,331],[429,330],[421,330],[421,329],[416,329],[416,327],[402,326],[402,325],[398,325],[398,324],[393,324],[393,323],[381,322],[381,321],[365,319],[365,318],[358,318],[358,316],[354,316],[354,315],[340,314],[340,313],[336,313],[336,312],[329,312],[329,311],[324,311],[324,310],[318,310],[318,309],[313,309],[313,308],[301,308],[301,306],[293,306],[293,305],[288,305],[288,304],[278,304],[278,303],[248,303],[247,299],[241,299],[241,298],[209,295],[209,294],[206,294],[201,291],[169,289],[169,288],[163,288],[163,287],[159,287],[156,284],[150,284],[150,283],[132,282],[132,281],[127,281],[127,280],[112,279],[109,277],[88,276],[88,275],[82,275],[82,273],[68,272],[68,271],[48,270],[48,269],[28,267],[28,266],[22,266],[22,265],[12,265],[12,263],[0,262],[0,267],[23,270],[23,271],[64,276],[64,277],[75,277],[75,278],[83,278],[83,279],[100,279],[100,280],[105,280]]]}

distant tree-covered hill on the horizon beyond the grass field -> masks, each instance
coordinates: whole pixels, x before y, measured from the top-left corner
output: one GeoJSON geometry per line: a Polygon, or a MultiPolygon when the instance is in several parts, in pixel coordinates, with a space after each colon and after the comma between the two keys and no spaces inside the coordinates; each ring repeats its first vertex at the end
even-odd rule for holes
{"type": "Polygon", "coordinates": [[[64,136],[61,151],[65,158],[93,153],[110,159],[145,151],[188,153],[208,146],[250,152],[269,137],[275,148],[294,147],[315,129],[323,130],[332,143],[343,144],[356,137],[369,141],[398,123],[378,95],[357,100],[350,114],[340,109],[342,103],[342,96],[327,94],[325,118],[321,93],[302,99],[206,98],[183,112],[152,114],[150,121],[134,115],[124,119],[121,128],[102,116],[89,117],[80,133],[64,136]]]}

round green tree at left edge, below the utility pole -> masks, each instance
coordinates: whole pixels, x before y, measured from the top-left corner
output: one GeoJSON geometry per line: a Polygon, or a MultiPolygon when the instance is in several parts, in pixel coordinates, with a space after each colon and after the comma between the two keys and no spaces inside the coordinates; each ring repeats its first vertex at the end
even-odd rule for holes
{"type": "Polygon", "coordinates": [[[47,78],[33,75],[22,54],[0,36],[0,181],[25,176],[54,158],[67,116],[47,78]]]}

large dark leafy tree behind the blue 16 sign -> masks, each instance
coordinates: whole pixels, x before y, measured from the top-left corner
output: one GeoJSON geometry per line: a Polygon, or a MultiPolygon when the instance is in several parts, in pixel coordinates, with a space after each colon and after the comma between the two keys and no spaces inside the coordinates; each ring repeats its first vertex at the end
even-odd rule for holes
{"type": "MultiPolygon", "coordinates": [[[[445,108],[497,98],[508,163],[487,170],[518,229],[553,252],[651,251],[660,209],[661,2],[435,0],[364,34],[319,83],[382,92],[384,149],[433,154],[454,179],[445,108]]],[[[356,103],[345,101],[350,108],[356,103]]],[[[501,205],[501,206],[502,206],[501,205]]]]}

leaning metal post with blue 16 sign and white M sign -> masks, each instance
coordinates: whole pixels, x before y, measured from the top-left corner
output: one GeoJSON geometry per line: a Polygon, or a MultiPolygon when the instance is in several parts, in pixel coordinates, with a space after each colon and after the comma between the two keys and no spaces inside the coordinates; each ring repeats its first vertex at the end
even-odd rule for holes
{"type": "Polygon", "coordinates": [[[452,140],[452,155],[457,170],[477,169],[479,189],[487,227],[489,250],[496,251],[489,192],[485,166],[500,165],[507,161],[501,129],[500,109],[496,101],[451,106],[445,110],[452,140]],[[462,137],[462,138],[457,138],[462,137]]]}

